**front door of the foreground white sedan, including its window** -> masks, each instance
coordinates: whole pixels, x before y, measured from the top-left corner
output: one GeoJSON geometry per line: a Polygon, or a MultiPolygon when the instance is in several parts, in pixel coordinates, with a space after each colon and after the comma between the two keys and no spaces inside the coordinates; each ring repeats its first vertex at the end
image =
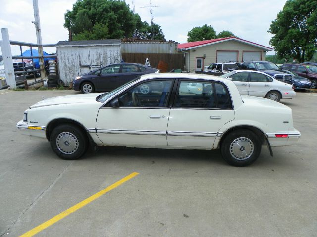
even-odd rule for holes
{"type": "Polygon", "coordinates": [[[173,79],[143,82],[100,108],[96,121],[100,140],[105,145],[166,146],[167,103],[173,83],[173,79]],[[152,85],[148,94],[140,93],[144,83],[152,85]],[[113,101],[117,105],[111,107],[113,101]]]}

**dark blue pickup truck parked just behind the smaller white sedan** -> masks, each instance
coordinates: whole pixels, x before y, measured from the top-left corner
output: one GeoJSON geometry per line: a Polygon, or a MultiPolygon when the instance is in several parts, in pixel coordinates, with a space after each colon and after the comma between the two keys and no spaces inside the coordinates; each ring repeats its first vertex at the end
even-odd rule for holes
{"type": "Polygon", "coordinates": [[[282,82],[291,82],[293,76],[281,70],[276,64],[268,61],[245,61],[242,70],[261,71],[282,82]]]}

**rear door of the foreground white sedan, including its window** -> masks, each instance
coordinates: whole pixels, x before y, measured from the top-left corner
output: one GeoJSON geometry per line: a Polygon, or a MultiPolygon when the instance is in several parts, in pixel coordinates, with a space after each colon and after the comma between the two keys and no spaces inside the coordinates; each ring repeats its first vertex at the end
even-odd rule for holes
{"type": "Polygon", "coordinates": [[[182,84],[201,90],[177,90],[167,127],[168,146],[211,149],[219,129],[235,118],[229,92],[220,82],[181,80],[178,88],[182,84]]]}

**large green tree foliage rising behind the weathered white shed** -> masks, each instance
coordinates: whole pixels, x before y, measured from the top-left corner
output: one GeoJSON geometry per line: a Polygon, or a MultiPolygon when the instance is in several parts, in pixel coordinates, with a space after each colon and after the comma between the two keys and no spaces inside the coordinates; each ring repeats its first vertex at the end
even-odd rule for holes
{"type": "MultiPolygon", "coordinates": [[[[151,26],[142,22],[140,16],[121,0],[77,0],[64,18],[64,27],[71,30],[73,40],[152,37],[151,26]]],[[[153,39],[165,39],[160,26],[156,24],[153,39]]]]}

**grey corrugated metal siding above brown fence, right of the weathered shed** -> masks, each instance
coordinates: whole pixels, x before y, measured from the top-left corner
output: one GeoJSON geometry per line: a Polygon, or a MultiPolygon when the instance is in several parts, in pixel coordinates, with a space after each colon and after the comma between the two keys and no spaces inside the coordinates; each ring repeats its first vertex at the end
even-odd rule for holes
{"type": "Polygon", "coordinates": [[[177,54],[177,43],[127,42],[121,43],[122,53],[169,53],[177,54]]]}

